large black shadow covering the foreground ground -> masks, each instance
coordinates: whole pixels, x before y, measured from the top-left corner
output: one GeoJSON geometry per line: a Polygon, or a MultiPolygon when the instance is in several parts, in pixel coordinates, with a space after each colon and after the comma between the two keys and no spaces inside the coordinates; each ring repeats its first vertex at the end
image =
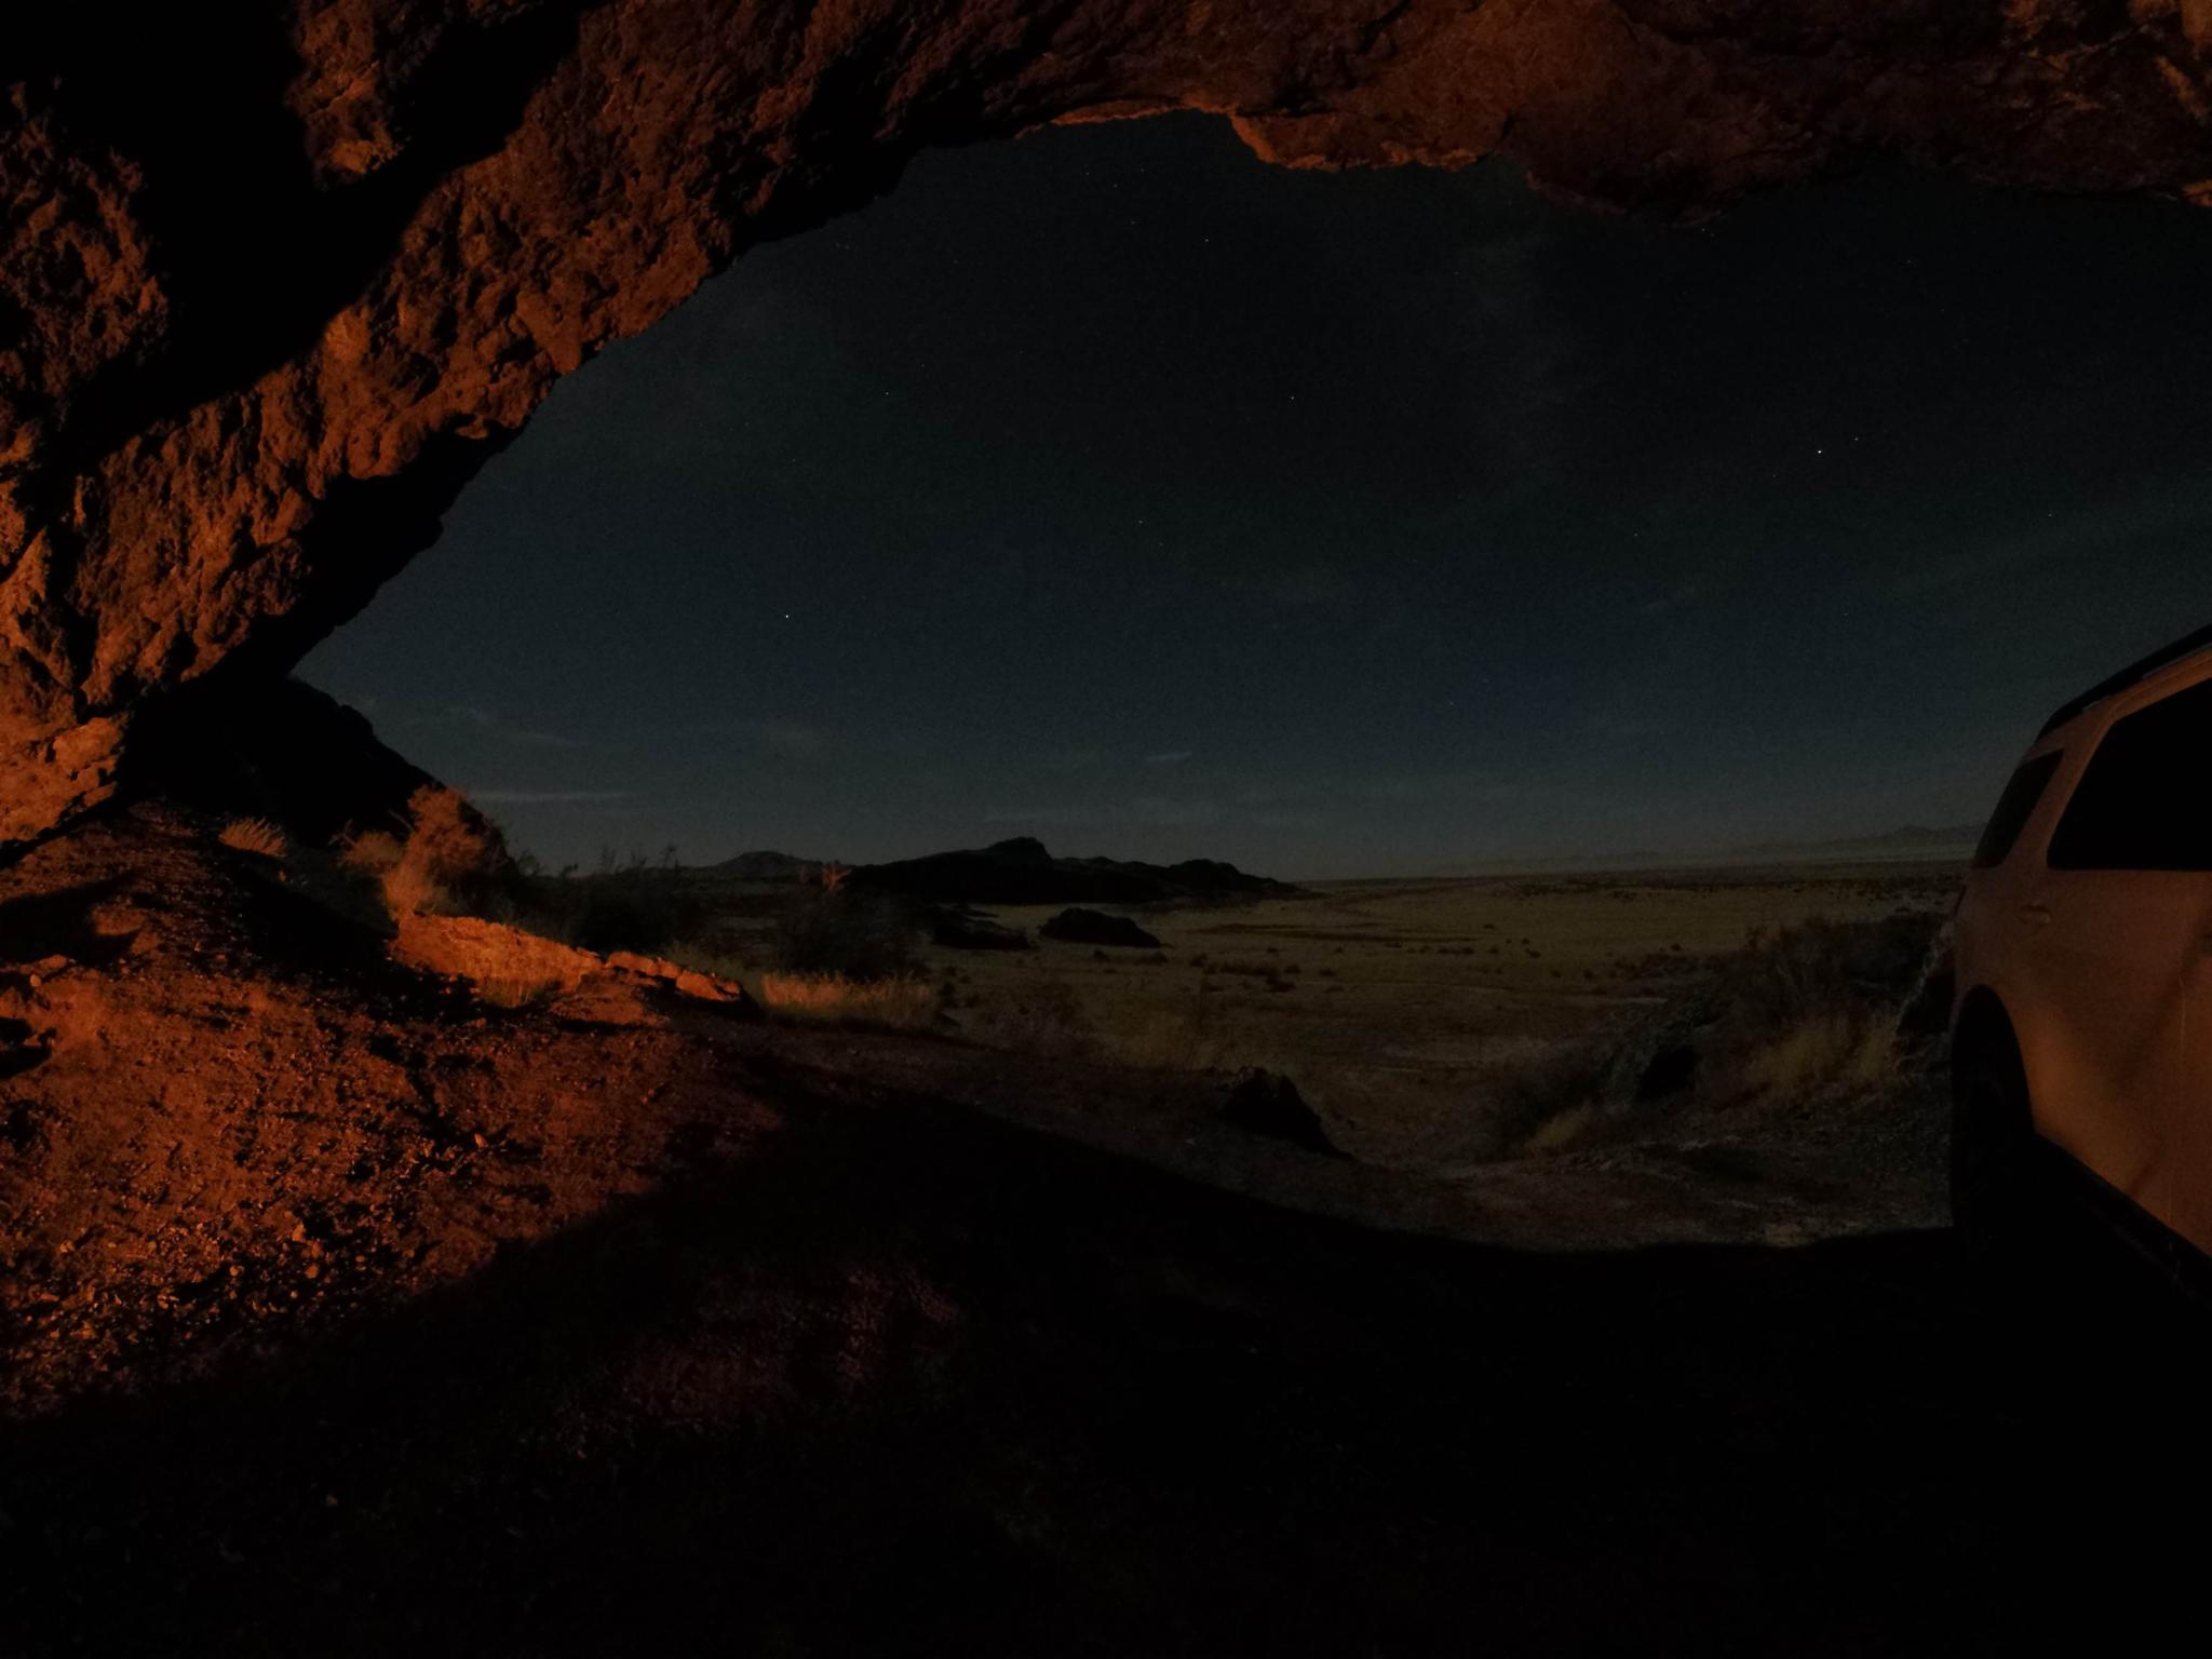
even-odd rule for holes
{"type": "Polygon", "coordinates": [[[9,1427],[9,1650],[1962,1652],[2093,1546],[2139,1606],[2199,1427],[2106,1301],[2000,1340],[1944,1234],[1511,1254],[925,1102],[692,1152],[9,1427]]]}

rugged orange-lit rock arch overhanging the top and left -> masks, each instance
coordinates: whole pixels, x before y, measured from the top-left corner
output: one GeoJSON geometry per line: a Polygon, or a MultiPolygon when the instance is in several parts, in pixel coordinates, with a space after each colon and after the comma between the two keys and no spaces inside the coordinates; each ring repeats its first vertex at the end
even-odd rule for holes
{"type": "Polygon", "coordinates": [[[0,22],[0,847],[128,783],[148,710],[290,668],[557,376],[925,144],[1199,108],[1677,217],[1871,153],[2212,190],[2212,0],[168,13],[0,22]]]}

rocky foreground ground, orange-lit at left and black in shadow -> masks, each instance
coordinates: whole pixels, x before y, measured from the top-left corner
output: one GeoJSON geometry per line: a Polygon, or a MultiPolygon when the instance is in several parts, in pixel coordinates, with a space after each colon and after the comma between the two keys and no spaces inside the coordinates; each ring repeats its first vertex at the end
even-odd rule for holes
{"type": "Polygon", "coordinates": [[[4,1652],[1960,1652],[2181,1584],[2179,1327],[1969,1281],[1863,1190],[1920,1130],[1407,1181],[1203,1079],[487,1006],[155,807],[0,869],[0,964],[4,1652]]]}

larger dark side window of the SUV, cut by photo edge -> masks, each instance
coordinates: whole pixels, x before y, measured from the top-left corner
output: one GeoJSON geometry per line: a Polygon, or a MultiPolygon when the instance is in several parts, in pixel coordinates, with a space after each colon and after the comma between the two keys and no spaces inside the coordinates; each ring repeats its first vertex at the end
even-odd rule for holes
{"type": "Polygon", "coordinates": [[[2212,869],[2212,681],[2112,723],[2051,836],[2055,869],[2212,869]]]}

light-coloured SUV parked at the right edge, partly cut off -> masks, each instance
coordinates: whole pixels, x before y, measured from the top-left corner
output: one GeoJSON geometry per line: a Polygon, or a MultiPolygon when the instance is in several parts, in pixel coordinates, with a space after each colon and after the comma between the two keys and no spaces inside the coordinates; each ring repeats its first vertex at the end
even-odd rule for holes
{"type": "Polygon", "coordinates": [[[2022,1192],[2037,1139],[2161,1254],[2212,1252],[2212,628],[2066,703],[1958,907],[1951,1201],[2022,1192]]]}

